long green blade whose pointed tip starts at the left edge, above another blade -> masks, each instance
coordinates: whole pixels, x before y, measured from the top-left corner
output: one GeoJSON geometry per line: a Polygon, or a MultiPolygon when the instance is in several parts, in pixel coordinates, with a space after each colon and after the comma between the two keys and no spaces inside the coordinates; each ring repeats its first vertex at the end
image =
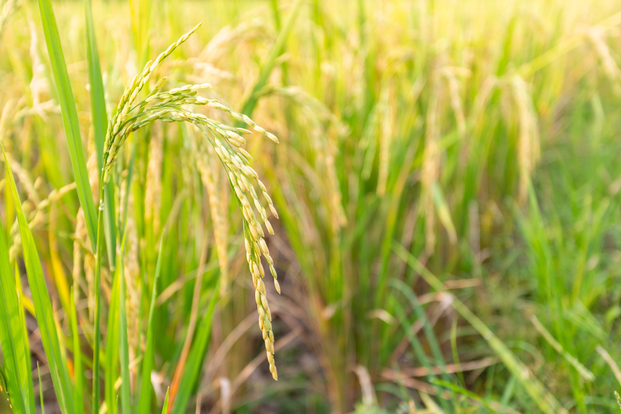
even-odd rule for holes
{"type": "Polygon", "coordinates": [[[47,286],[45,286],[39,253],[37,253],[32,232],[30,232],[30,227],[22,210],[22,203],[19,200],[19,194],[17,194],[17,187],[9,166],[9,160],[7,160],[6,153],[4,153],[4,146],[1,146],[1,148],[2,155],[4,155],[6,175],[15,201],[19,234],[22,238],[22,251],[24,251],[24,264],[30,292],[32,293],[35,315],[39,324],[43,349],[45,349],[45,355],[50,366],[50,376],[52,376],[61,412],[63,414],[73,414],[73,386],[67,367],[63,362],[63,355],[61,354],[58,341],[58,331],[53,317],[52,302],[47,292],[47,286]]]}

